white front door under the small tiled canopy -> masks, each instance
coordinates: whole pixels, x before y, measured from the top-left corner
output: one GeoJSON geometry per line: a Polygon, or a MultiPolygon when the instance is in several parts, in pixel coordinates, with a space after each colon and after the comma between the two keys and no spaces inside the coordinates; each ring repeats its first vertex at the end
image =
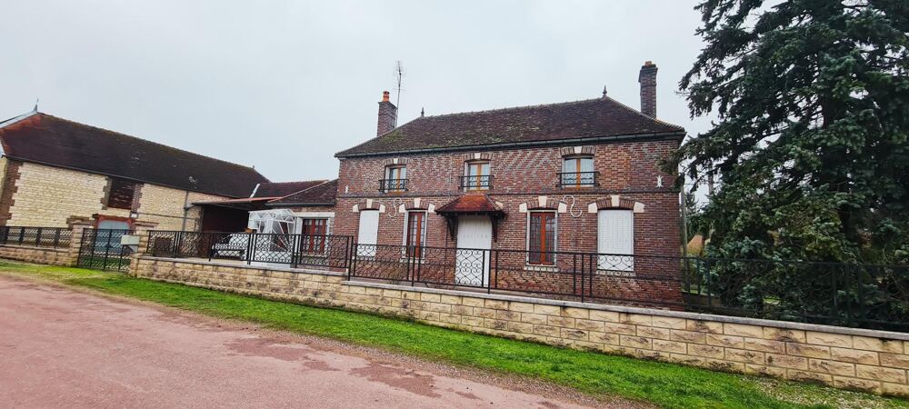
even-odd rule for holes
{"type": "Polygon", "coordinates": [[[492,246],[493,222],[488,216],[458,217],[454,282],[475,286],[489,284],[489,249],[492,246]]]}

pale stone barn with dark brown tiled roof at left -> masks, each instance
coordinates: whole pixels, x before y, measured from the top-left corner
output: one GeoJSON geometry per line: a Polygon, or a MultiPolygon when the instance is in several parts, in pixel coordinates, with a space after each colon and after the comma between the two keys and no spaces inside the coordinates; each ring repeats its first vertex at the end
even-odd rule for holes
{"type": "Polygon", "coordinates": [[[0,146],[0,225],[199,230],[225,215],[194,203],[268,183],[250,167],[36,111],[0,123],[0,146]]]}

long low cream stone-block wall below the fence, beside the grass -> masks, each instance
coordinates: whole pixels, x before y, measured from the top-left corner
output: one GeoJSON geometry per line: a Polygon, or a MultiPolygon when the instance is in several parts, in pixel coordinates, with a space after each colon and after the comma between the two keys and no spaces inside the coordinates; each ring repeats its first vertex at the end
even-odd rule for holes
{"type": "Polygon", "coordinates": [[[607,354],[909,396],[909,334],[903,333],[347,282],[332,272],[155,257],[134,260],[131,274],[607,354]]]}

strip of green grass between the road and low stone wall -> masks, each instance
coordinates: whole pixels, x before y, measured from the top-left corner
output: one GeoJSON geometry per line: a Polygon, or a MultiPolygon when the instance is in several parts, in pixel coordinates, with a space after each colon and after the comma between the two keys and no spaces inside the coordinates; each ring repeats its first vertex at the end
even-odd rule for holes
{"type": "Polygon", "coordinates": [[[79,268],[0,262],[16,274],[87,287],[270,328],[334,338],[401,354],[529,376],[587,394],[609,394],[664,407],[909,407],[904,400],[740,374],[574,351],[469,334],[431,325],[79,268]]]}

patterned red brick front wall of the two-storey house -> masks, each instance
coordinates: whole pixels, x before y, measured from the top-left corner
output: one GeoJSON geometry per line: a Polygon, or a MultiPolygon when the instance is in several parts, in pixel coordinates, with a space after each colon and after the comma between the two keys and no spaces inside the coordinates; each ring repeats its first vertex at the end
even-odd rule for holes
{"type": "MultiPolygon", "coordinates": [[[[678,193],[672,188],[674,176],[662,173],[658,165],[677,147],[677,138],[581,146],[585,153],[593,154],[594,170],[600,177],[599,186],[580,189],[557,187],[557,173],[562,169],[564,154],[574,152],[574,146],[527,147],[482,154],[460,151],[342,158],[333,234],[354,236],[356,242],[358,212],[379,209],[377,244],[401,246],[405,244],[406,219],[402,209],[424,209],[429,212],[425,245],[456,247],[456,234],[449,231],[445,217],[434,210],[461,195],[476,195],[464,193],[459,187],[465,159],[476,155],[489,161],[490,174],[494,176],[492,188],[484,193],[504,212],[497,225],[494,250],[526,250],[527,209],[549,208],[556,214],[556,251],[595,253],[597,210],[612,207],[634,210],[634,254],[637,255],[634,275],[638,279],[603,274],[593,280],[594,292],[632,303],[654,298],[678,301],[677,285],[664,281],[679,274],[678,260],[646,257],[679,254],[680,217],[678,193]],[[393,162],[406,164],[408,190],[382,193],[379,180],[384,178],[385,166],[393,162]],[[542,206],[540,196],[546,196],[542,206]],[[662,279],[653,282],[641,279],[648,276],[662,279]]],[[[542,271],[526,265],[524,253],[502,253],[499,259],[500,263],[508,264],[507,268],[499,269],[498,276],[490,277],[498,280],[499,288],[514,284],[514,289],[527,290],[536,285],[540,291],[564,292],[566,286],[574,285],[571,277],[558,273],[570,270],[570,265],[577,262],[573,256],[558,254],[557,268],[542,271]]],[[[586,261],[589,263],[590,259],[586,261]]],[[[424,279],[451,282],[451,277],[442,275],[454,272],[424,268],[424,274],[424,279]]]]}

